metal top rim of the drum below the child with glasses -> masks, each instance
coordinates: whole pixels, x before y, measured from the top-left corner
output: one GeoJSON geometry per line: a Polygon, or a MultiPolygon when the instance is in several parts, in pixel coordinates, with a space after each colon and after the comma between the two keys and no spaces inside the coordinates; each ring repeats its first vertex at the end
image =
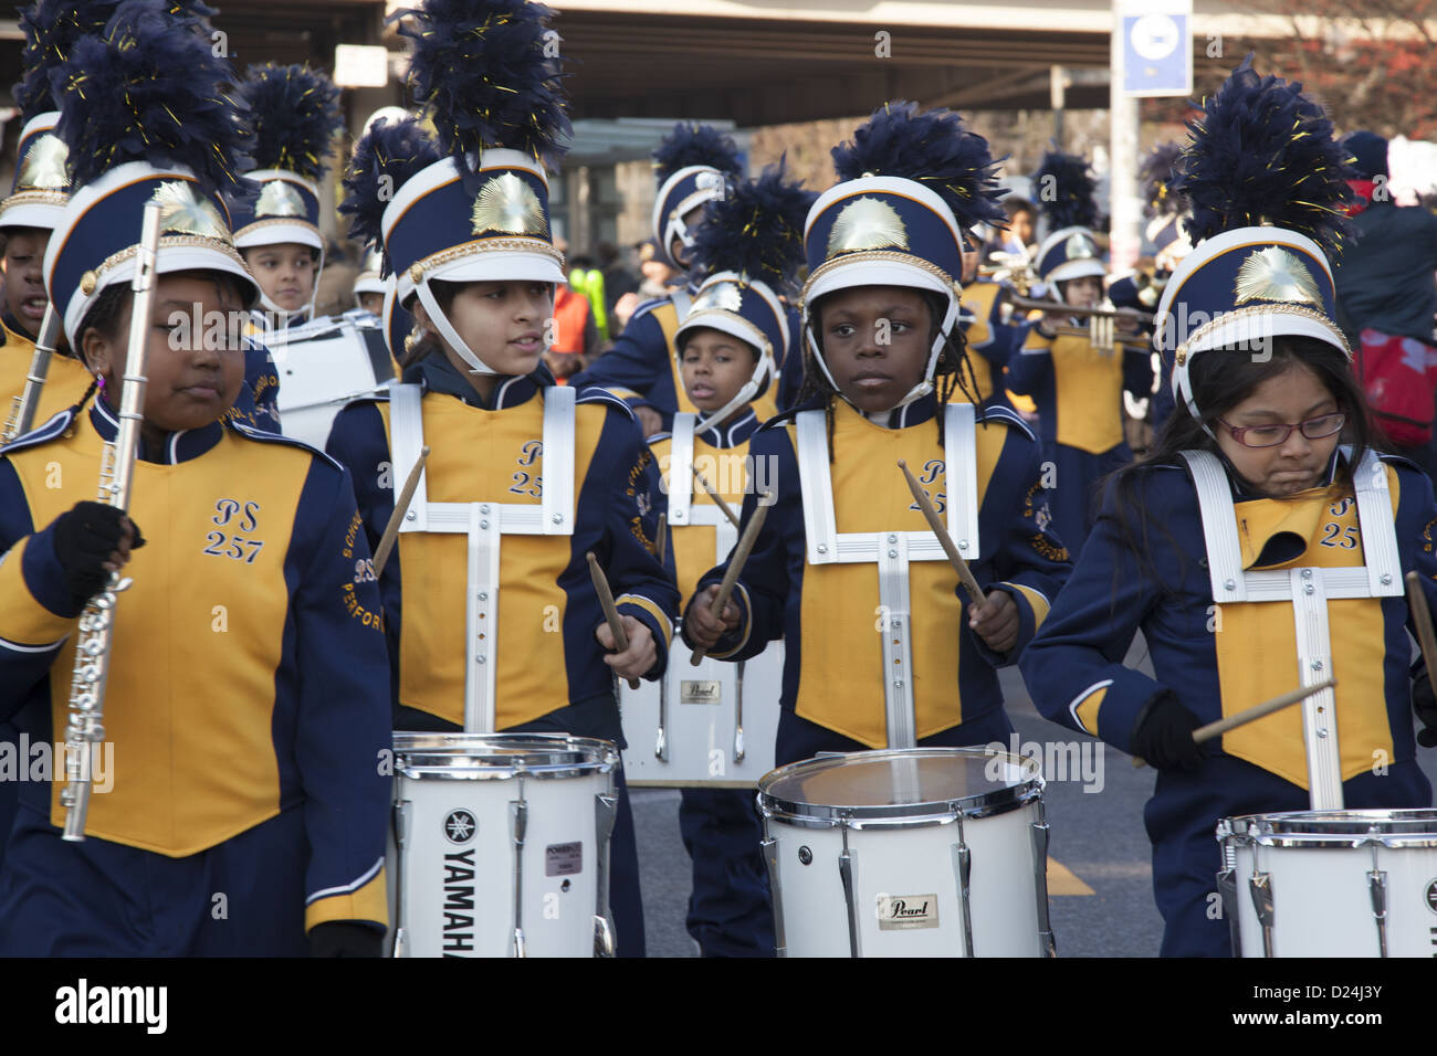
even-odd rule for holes
{"type": "Polygon", "coordinates": [[[1223,842],[1275,848],[1354,849],[1372,843],[1437,848],[1437,809],[1283,810],[1219,823],[1223,842]]]}

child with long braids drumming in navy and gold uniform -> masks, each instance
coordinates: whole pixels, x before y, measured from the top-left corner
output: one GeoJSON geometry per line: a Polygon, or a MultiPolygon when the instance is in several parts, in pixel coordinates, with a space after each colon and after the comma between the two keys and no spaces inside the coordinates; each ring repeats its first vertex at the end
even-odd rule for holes
{"type": "MultiPolygon", "coordinates": [[[[730,606],[711,611],[720,566],[684,619],[685,641],[720,659],[785,638],[779,764],[1004,740],[994,668],[1023,649],[1068,572],[1039,523],[1032,434],[1006,408],[950,401],[971,385],[954,335],[963,231],[1002,220],[987,144],[954,114],[897,103],[833,155],[844,182],[819,197],[805,234],[809,398],[750,441],[754,460],[773,460],[777,494],[730,606]],[[950,568],[907,556],[927,522],[898,460],[947,516],[987,588],[981,606],[950,568]],[[877,547],[882,576],[871,559],[838,560],[851,539],[877,547]],[[907,576],[907,609],[894,573],[907,576]]],[[[756,504],[744,499],[744,523],[756,504]]]]}

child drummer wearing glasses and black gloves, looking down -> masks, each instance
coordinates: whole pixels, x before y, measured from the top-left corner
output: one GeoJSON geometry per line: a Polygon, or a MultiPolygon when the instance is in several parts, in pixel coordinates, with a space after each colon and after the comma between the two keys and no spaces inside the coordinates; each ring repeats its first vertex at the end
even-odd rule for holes
{"type": "Polygon", "coordinates": [[[1227,955],[1237,907],[1213,912],[1220,818],[1431,802],[1403,575],[1417,570],[1437,602],[1437,506],[1424,474],[1369,445],[1334,322],[1323,244],[1346,188],[1332,124],[1300,85],[1244,62],[1193,128],[1178,188],[1197,246],[1157,319],[1177,411],[1106,488],[1020,664],[1039,711],[1158,769],[1144,816],[1163,954],[1227,955]],[[1140,628],[1151,678],[1121,662],[1140,628]],[[1220,747],[1191,738],[1329,675],[1335,693],[1220,747]]]}

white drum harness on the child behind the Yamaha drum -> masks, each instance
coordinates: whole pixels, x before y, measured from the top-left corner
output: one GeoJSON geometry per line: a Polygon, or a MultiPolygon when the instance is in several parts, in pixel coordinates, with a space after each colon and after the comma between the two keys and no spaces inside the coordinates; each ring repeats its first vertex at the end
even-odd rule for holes
{"type": "MultiPolygon", "coordinates": [[[[407,480],[424,447],[424,394],[418,385],[389,389],[389,432],[395,488],[407,480]]],[[[464,675],[466,733],[494,731],[499,552],[504,534],[573,534],[575,391],[568,385],[543,389],[543,494],[537,506],[519,503],[431,503],[428,473],[420,474],[399,533],[434,532],[468,536],[464,675]],[[483,638],[480,638],[483,634],[483,638]]]]}

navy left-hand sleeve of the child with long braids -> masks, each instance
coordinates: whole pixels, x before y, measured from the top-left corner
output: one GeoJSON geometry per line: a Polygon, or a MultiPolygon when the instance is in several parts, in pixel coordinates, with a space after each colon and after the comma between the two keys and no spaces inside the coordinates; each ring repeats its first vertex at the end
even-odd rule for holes
{"type": "MultiPolygon", "coordinates": [[[[754,464],[762,458],[775,460],[770,463],[775,467],[770,480],[777,486],[777,499],[769,509],[759,537],[753,540],[749,560],[744,562],[734,583],[733,603],[739,606],[739,626],[710,649],[708,655],[714,659],[752,659],[763,652],[770,641],[783,636],[792,586],[789,552],[793,547],[802,550],[803,546],[803,500],[799,491],[798,460],[787,428],[760,430],[753,435],[749,453],[754,464]]],[[[743,497],[743,511],[739,516],[740,537],[757,507],[757,494],[750,493],[743,497]]],[[[727,570],[729,560],[724,560],[700,576],[694,596],[697,598],[708,586],[717,586],[727,570]]],[[[693,605],[693,601],[688,603],[693,605]]]]}

